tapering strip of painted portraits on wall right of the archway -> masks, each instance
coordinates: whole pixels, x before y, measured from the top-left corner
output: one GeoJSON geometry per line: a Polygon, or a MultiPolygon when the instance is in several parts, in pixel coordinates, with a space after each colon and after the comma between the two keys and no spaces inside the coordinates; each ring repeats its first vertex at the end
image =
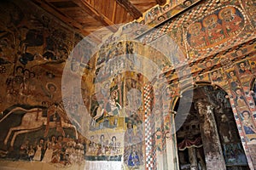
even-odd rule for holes
{"type": "MultiPolygon", "coordinates": [[[[236,50],[235,53],[239,54],[240,52],[241,50],[236,50]]],[[[229,88],[227,91],[230,91],[230,105],[236,120],[241,144],[247,156],[248,166],[254,169],[256,164],[255,156],[253,157],[256,138],[256,126],[253,120],[253,117],[255,117],[253,116],[255,104],[253,104],[253,96],[249,88],[250,81],[253,77],[253,67],[250,66],[252,63],[250,63],[249,60],[242,60],[238,63],[230,64],[231,65],[222,64],[229,80],[229,88]]]]}

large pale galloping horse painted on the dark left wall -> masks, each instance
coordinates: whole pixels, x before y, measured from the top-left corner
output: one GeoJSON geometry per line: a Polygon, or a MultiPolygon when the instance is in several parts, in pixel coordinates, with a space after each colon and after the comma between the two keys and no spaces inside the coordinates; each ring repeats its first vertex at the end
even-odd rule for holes
{"type": "Polygon", "coordinates": [[[9,132],[7,136],[4,139],[4,144],[7,145],[9,142],[9,139],[11,137],[11,134],[14,133],[13,137],[10,141],[10,146],[13,147],[15,144],[15,139],[18,135],[22,133],[30,133],[33,131],[37,131],[43,126],[46,126],[44,137],[48,135],[49,128],[56,128],[57,131],[61,132],[63,136],[65,136],[65,132],[63,130],[63,127],[66,128],[73,128],[75,131],[75,137],[78,139],[78,132],[77,127],[75,127],[71,122],[68,121],[68,117],[64,112],[63,107],[61,105],[51,105],[47,109],[47,116],[43,116],[44,109],[40,107],[32,108],[32,109],[25,109],[22,107],[15,107],[11,111],[9,111],[3,118],[0,120],[0,122],[3,122],[3,120],[8,117],[10,114],[14,113],[15,111],[25,111],[25,115],[22,116],[21,123],[17,127],[10,127],[9,132]],[[58,114],[60,116],[59,121],[55,121],[55,114],[58,114]],[[49,121],[50,116],[53,116],[54,121],[49,121]]]}

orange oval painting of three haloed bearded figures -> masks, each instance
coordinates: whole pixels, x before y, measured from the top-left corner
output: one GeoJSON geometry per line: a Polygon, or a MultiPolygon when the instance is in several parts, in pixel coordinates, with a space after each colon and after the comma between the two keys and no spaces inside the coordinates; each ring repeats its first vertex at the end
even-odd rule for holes
{"type": "Polygon", "coordinates": [[[211,48],[242,31],[244,17],[238,8],[224,7],[189,26],[187,39],[191,48],[211,48]],[[200,37],[196,39],[196,37],[200,37]],[[201,46],[201,47],[199,47],[201,46]]]}

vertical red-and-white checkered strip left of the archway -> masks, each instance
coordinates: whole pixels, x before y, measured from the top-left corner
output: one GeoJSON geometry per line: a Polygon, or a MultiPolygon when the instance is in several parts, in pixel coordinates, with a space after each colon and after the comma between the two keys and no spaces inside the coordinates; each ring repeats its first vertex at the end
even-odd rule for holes
{"type": "Polygon", "coordinates": [[[154,143],[154,115],[151,114],[152,86],[148,83],[143,89],[143,102],[145,108],[145,146],[146,146],[146,169],[156,169],[156,153],[154,143]]]}

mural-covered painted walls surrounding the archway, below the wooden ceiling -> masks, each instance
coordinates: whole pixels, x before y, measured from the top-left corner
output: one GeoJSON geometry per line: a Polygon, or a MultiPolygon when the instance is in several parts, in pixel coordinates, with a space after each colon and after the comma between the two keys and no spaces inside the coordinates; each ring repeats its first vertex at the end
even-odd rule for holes
{"type": "Polygon", "coordinates": [[[174,3],[148,10],[96,50],[32,3],[35,10],[1,3],[1,157],[178,169],[174,106],[187,89],[211,83],[228,94],[253,169],[255,2],[174,3]],[[63,72],[79,84],[61,84],[63,72]]]}

